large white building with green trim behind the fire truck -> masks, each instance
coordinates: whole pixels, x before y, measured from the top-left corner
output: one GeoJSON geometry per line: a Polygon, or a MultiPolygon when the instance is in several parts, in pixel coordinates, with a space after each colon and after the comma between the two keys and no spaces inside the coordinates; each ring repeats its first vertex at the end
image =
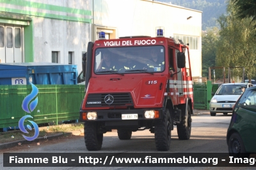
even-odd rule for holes
{"type": "Polygon", "coordinates": [[[151,0],[1,0],[1,63],[77,65],[97,32],[109,38],[164,36],[189,43],[193,77],[202,75],[202,12],[151,0]]]}

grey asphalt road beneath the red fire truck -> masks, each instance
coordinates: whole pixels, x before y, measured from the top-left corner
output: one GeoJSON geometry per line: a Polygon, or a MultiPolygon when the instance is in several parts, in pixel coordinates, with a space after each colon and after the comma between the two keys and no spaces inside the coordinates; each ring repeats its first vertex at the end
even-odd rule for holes
{"type": "MultiPolygon", "coordinates": [[[[210,116],[209,112],[192,116],[191,138],[188,141],[180,141],[177,136],[176,127],[172,131],[172,143],[169,151],[165,153],[225,153],[228,152],[226,143],[227,128],[230,123],[231,114],[217,114],[210,116]]],[[[3,152],[15,153],[92,153],[86,150],[83,136],[67,137],[39,146],[22,146],[3,152]]],[[[149,130],[132,132],[131,140],[120,141],[117,132],[104,134],[102,150],[95,153],[143,153],[157,152],[154,134],[149,130]]],[[[0,167],[3,167],[3,153],[0,153],[0,167]]],[[[103,169],[102,167],[43,167],[44,169],[103,169]]],[[[220,169],[220,167],[186,167],[186,169],[220,169]]],[[[4,169],[20,169],[18,167],[4,167],[4,169]]],[[[42,169],[42,167],[22,167],[22,169],[42,169]]],[[[104,169],[156,169],[156,167],[104,167],[104,169]]],[[[157,169],[170,169],[162,167],[157,169]]],[[[184,169],[172,167],[172,169],[184,169]]],[[[223,169],[223,168],[221,168],[223,169]]],[[[250,167],[225,167],[225,169],[250,169],[250,167]]]]}

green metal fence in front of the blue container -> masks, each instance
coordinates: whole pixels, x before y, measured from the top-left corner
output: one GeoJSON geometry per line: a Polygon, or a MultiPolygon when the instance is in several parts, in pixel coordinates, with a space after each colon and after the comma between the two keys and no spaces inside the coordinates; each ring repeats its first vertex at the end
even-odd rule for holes
{"type": "MultiPolygon", "coordinates": [[[[31,116],[35,123],[53,123],[78,120],[84,85],[43,85],[38,88],[38,104],[31,116]]],[[[0,85],[0,128],[18,127],[23,111],[22,102],[32,91],[31,85],[0,85]]],[[[28,122],[27,122],[28,123],[28,122]]],[[[28,123],[29,124],[29,123],[28,123]]],[[[25,123],[26,125],[26,123],[25,123]]]]}

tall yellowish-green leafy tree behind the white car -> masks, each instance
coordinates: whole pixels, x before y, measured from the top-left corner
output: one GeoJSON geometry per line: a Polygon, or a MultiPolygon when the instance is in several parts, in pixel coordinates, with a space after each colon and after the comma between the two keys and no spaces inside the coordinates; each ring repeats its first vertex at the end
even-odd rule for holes
{"type": "MultiPolygon", "coordinates": [[[[218,19],[221,29],[216,64],[227,68],[244,66],[246,76],[252,79],[256,71],[255,29],[250,19],[237,17],[237,6],[234,3],[228,4],[227,13],[218,19]]],[[[242,69],[234,69],[233,76],[241,77],[242,72],[242,69]]]]}

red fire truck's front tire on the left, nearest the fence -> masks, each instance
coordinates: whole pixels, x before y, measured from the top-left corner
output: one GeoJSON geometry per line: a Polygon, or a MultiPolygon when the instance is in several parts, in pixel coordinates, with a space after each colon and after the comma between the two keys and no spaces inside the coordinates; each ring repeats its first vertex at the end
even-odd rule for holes
{"type": "Polygon", "coordinates": [[[103,134],[97,133],[97,123],[84,122],[84,143],[88,151],[101,149],[103,134]]]}

